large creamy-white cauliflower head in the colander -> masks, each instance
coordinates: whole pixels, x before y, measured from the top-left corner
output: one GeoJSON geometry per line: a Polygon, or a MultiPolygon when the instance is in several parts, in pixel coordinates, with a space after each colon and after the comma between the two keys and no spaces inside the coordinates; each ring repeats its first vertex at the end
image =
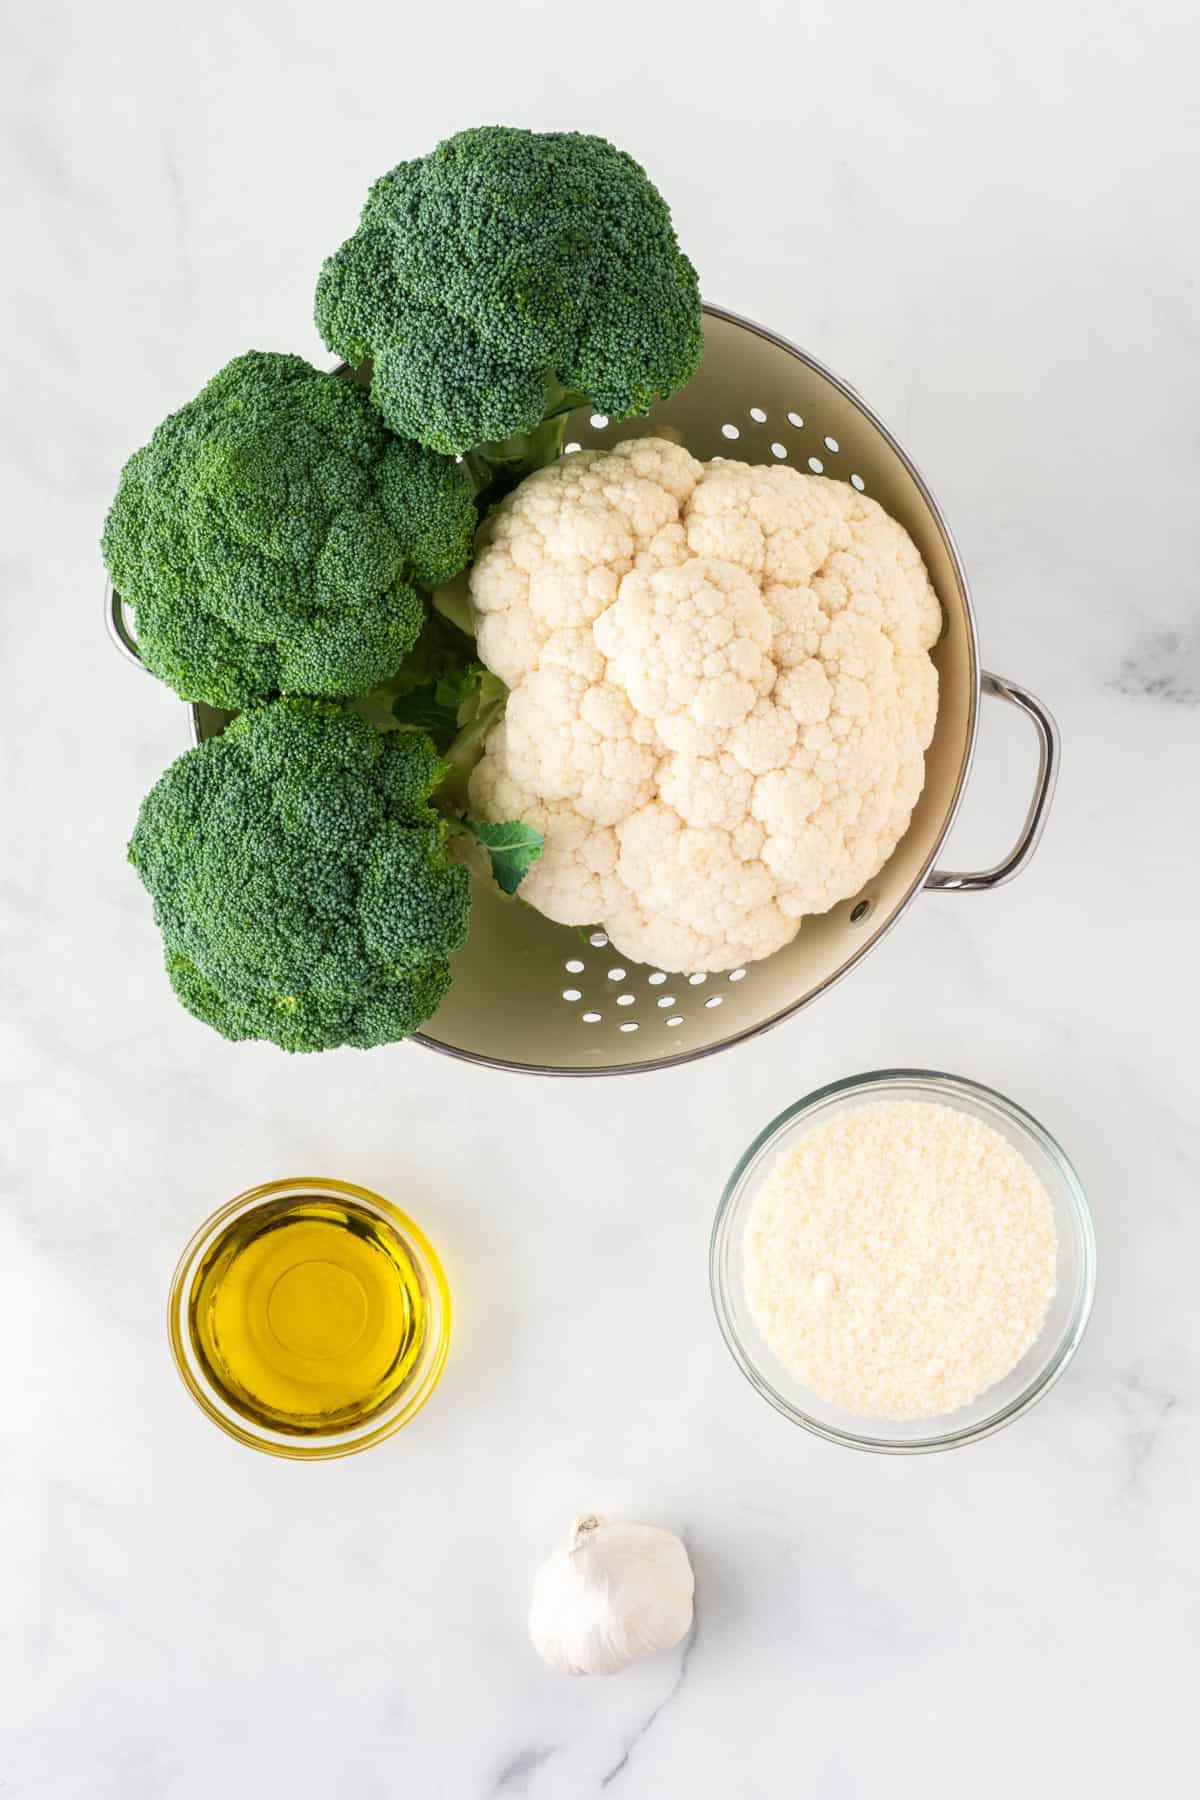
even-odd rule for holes
{"type": "Polygon", "coordinates": [[[511,688],[471,776],[545,837],[522,898],[622,956],[720,970],[790,943],[887,862],[925,781],[941,607],[855,488],[583,450],[493,513],[470,578],[511,688]]]}

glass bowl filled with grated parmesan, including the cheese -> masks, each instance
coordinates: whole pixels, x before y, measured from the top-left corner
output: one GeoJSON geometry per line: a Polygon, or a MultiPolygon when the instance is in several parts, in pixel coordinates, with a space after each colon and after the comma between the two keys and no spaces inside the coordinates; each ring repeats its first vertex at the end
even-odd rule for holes
{"type": "Polygon", "coordinates": [[[716,1318],[786,1418],[851,1449],[955,1449],[1074,1355],[1096,1237],[1043,1125],[977,1082],[883,1069],[822,1087],[745,1152],[716,1213],[716,1318]]]}

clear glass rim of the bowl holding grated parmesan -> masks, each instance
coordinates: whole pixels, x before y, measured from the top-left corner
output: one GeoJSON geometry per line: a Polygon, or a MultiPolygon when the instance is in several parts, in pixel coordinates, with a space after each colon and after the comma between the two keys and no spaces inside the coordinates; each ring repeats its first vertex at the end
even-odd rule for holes
{"type": "MultiPolygon", "coordinates": [[[[984,1082],[975,1082],[964,1075],[950,1075],[943,1069],[867,1069],[862,1075],[847,1075],[837,1082],[828,1082],[824,1087],[817,1087],[802,1100],[784,1107],[783,1112],[775,1114],[775,1118],[757,1132],[748,1148],[741,1152],[725,1183],[716,1208],[716,1217],[712,1220],[712,1231],[709,1237],[709,1291],[712,1296],[716,1323],[734,1363],[754,1391],[759,1393],[761,1399],[765,1399],[766,1404],[777,1413],[792,1424],[802,1426],[804,1431],[813,1433],[813,1436],[824,1438],[828,1444],[840,1444],[844,1449],[869,1451],[878,1456],[921,1456],[932,1451],[963,1449],[966,1444],[977,1444],[982,1438],[993,1436],[993,1433],[1004,1429],[1004,1426],[1009,1426],[1015,1418],[1020,1418],[1022,1413],[1027,1413],[1033,1406],[1036,1406],[1036,1402],[1042,1400],[1058,1382],[1079,1348],[1092,1316],[1092,1301],[1096,1298],[1096,1228],[1087,1202],[1087,1193],[1083,1192],[1083,1183],[1079,1181],[1074,1163],[1045,1125],[1042,1125],[1042,1121],[1016,1100],[1009,1100],[1007,1094],[1002,1094],[995,1087],[988,1087],[984,1082]],[[1045,1368],[1042,1368],[1018,1395],[973,1426],[963,1426],[948,1431],[928,1431],[918,1438],[894,1440],[878,1436],[871,1431],[842,1431],[820,1418],[813,1418],[799,1406],[793,1406],[761,1373],[757,1363],[748,1354],[732,1323],[730,1307],[727,1303],[727,1283],[723,1280],[723,1251],[729,1231],[732,1229],[732,1220],[738,1213],[738,1202],[745,1195],[745,1183],[750,1166],[774,1141],[781,1139],[799,1118],[808,1112],[815,1112],[826,1102],[838,1100],[846,1094],[885,1094],[892,1087],[910,1087],[914,1084],[928,1085],[932,1094],[939,1096],[943,1103],[954,1103],[954,1096],[957,1093],[993,1107],[1002,1112],[1011,1125],[1031,1138],[1045,1156],[1049,1156],[1061,1175],[1063,1192],[1069,1199],[1069,1206],[1079,1231],[1081,1269],[1079,1296],[1063,1339],[1045,1368]]],[[[948,1413],[945,1417],[952,1418],[954,1415],[948,1413]]]]}

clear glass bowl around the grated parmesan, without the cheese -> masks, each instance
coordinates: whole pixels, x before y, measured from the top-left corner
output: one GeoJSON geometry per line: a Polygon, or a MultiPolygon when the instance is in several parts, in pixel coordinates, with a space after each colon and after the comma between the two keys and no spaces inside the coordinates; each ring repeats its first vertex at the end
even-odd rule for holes
{"type": "Polygon", "coordinates": [[[914,1454],[975,1444],[1011,1424],[1054,1386],[1076,1354],[1096,1289],[1096,1235],[1074,1168],[1043,1125],[1004,1094],[930,1069],[878,1069],[820,1087],[759,1132],[734,1168],[712,1226],[709,1256],[712,1305],[750,1386],[806,1431],[856,1451],[914,1454]],[[1058,1282],[1040,1336],[1009,1373],[979,1399],[937,1418],[864,1418],[819,1399],[790,1375],[754,1323],[741,1282],[741,1246],[763,1179],[783,1148],[835,1112],[880,1100],[925,1100],[957,1107],[991,1125],[1033,1166],[1054,1208],[1058,1282]]]}

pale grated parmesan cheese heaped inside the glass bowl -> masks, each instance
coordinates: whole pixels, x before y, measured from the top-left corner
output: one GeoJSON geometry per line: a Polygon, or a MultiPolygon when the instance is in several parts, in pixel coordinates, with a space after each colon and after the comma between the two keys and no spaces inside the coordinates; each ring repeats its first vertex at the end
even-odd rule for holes
{"type": "Polygon", "coordinates": [[[849,1107],[779,1156],[741,1256],[790,1375],[855,1413],[930,1418],[1025,1354],[1056,1249],[1051,1199],[1000,1132],[894,1100],[849,1107]]]}

